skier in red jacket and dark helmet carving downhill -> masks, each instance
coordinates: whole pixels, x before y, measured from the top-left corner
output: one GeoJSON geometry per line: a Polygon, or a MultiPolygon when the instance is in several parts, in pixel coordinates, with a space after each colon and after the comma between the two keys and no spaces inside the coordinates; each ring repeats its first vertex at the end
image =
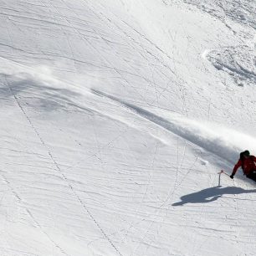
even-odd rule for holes
{"type": "Polygon", "coordinates": [[[233,172],[230,175],[232,179],[239,167],[242,167],[243,175],[256,182],[256,157],[250,156],[249,151],[243,151],[240,153],[240,159],[233,167],[233,172]]]}

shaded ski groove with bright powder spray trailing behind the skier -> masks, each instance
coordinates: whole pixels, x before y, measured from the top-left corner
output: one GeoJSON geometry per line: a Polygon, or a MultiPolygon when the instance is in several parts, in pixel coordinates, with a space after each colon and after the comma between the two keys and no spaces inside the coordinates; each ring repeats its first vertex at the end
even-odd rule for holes
{"type": "Polygon", "coordinates": [[[233,131],[216,124],[189,120],[186,117],[175,116],[174,114],[169,119],[165,119],[99,90],[92,90],[92,92],[95,95],[104,96],[107,99],[120,103],[123,107],[127,107],[135,112],[136,115],[141,115],[146,120],[160,125],[167,131],[171,131],[177,136],[202,147],[206,151],[214,153],[216,156],[220,156],[226,161],[233,162],[233,159],[237,157],[237,152],[243,151],[243,148],[246,147],[250,148],[253,154],[256,152],[256,140],[238,131],[233,131]],[[215,128],[214,131],[212,127],[215,128]]]}

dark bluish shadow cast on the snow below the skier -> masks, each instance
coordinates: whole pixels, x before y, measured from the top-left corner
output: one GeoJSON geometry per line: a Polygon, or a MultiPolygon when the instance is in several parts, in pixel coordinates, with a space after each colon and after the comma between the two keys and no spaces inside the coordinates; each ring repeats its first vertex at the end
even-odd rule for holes
{"type": "Polygon", "coordinates": [[[185,203],[212,202],[223,195],[245,194],[256,192],[256,189],[243,189],[241,187],[209,187],[199,192],[194,192],[181,197],[181,202],[172,203],[172,206],[179,206],[185,203]]]}

